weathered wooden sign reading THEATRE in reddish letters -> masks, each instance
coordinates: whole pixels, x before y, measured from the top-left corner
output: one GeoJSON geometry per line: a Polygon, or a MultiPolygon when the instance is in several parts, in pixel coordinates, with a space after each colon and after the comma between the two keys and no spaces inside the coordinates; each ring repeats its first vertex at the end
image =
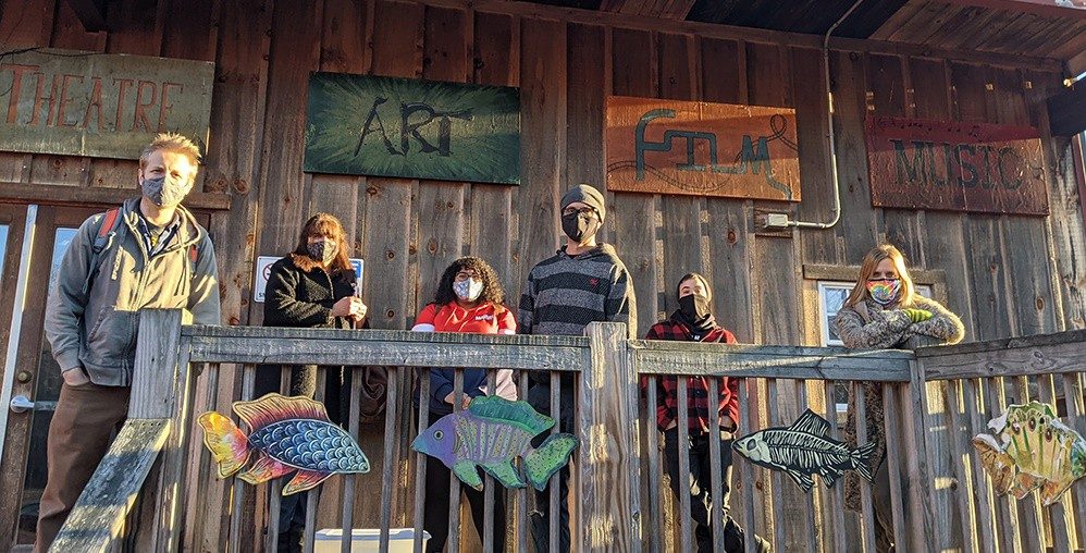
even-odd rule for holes
{"type": "Polygon", "coordinates": [[[211,62],[32,49],[0,60],[0,150],[138,159],[161,132],[207,148],[211,62]]]}

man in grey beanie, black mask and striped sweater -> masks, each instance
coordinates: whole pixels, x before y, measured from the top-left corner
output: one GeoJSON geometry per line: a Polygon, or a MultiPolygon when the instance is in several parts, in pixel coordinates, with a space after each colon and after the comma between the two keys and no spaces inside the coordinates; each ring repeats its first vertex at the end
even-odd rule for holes
{"type": "MultiPolygon", "coordinates": [[[[561,197],[561,230],[566,245],[540,261],[528,273],[517,314],[522,334],[582,335],[594,321],[626,323],[629,337],[637,337],[638,322],[630,273],[609,244],[597,244],[596,232],[607,216],[600,191],[581,184],[561,197]]],[[[528,402],[535,410],[551,414],[551,380],[545,372],[529,373],[528,402]]],[[[573,377],[563,376],[559,392],[559,428],[573,430],[573,377]]],[[[545,435],[540,437],[540,441],[545,435]]],[[[539,445],[538,443],[535,445],[539,445]]],[[[558,551],[570,551],[569,469],[558,474],[558,551]]],[[[535,495],[532,539],[535,551],[550,551],[551,486],[535,495]]]]}

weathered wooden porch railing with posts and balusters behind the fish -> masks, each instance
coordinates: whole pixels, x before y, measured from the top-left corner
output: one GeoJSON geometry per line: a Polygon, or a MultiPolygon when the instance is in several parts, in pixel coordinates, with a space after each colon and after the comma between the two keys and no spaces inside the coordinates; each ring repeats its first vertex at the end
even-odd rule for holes
{"type": "MultiPolygon", "coordinates": [[[[521,394],[529,372],[545,371],[554,384],[552,406],[560,395],[559,374],[575,373],[572,430],[581,446],[571,464],[569,506],[577,551],[693,550],[690,505],[676,501],[665,486],[652,407],[655,385],[644,396],[639,388],[641,376],[652,384],[668,374],[742,379],[738,435],[788,426],[811,408],[830,421],[831,433],[840,439],[838,415],[846,395],[856,398],[856,420],[863,421],[864,386],[859,384],[880,382],[898,551],[1072,551],[1086,545],[1083,484],[1052,507],[1042,508],[1035,495],[1021,502],[996,497],[970,444],[1009,403],[1037,398],[1038,393],[1059,406],[1069,426],[1086,433],[1086,331],[920,347],[914,354],[630,341],[624,327],[608,323],[590,325],[583,337],[183,327],[178,312],[152,310],[143,314],[139,335],[129,420],[53,551],[102,551],[122,540],[135,551],[275,551],[282,484],[215,480],[193,419],[205,410],[232,415],[232,402],[254,396],[258,370],[279,371],[286,391],[289,366],[297,365],[348,367],[356,373],[363,366],[390,368],[383,425],[361,426],[358,402],[349,407],[353,437],[383,437],[377,440],[380,451],[366,451],[373,470],[333,477],[320,494],[308,494],[307,551],[312,551],[319,526],[348,529],[342,551],[348,551],[350,528],[379,528],[381,551],[386,551],[390,528],[414,527],[420,551],[425,497],[445,493],[424,489],[424,464],[409,450],[417,421],[428,416],[427,402],[414,406],[409,391],[418,380],[425,397],[430,367],[485,368],[492,382],[497,369],[515,369],[521,394]],[[1005,395],[1008,388],[1012,397],[1005,395]],[[230,390],[240,390],[239,396],[223,393],[230,390]]],[[[461,378],[458,370],[457,380],[461,378]]],[[[318,382],[321,400],[323,380],[318,382]]],[[[679,382],[681,403],[686,379],[679,382]]],[[[358,397],[360,385],[353,379],[349,397],[358,397]]],[[[684,422],[679,421],[680,481],[690,470],[682,462],[684,422]]],[[[855,431],[864,443],[865,426],[859,423],[855,431]]],[[[719,466],[717,457],[714,467],[719,466]]],[[[720,470],[714,468],[711,476],[713,489],[720,490],[720,470]]],[[[775,551],[874,551],[872,488],[860,487],[860,514],[846,511],[842,489],[839,481],[803,493],[782,474],[736,455],[730,512],[748,537],[758,533],[775,551]]],[[[477,546],[493,551],[490,500],[505,490],[489,478],[485,490],[488,531],[477,546]]],[[[455,478],[447,493],[459,505],[455,478]]],[[[526,490],[508,493],[508,549],[530,550],[527,520],[532,509],[557,513],[556,493],[550,505],[532,505],[532,495],[526,490]]],[[[449,509],[449,518],[448,551],[458,551],[459,509],[449,509]]],[[[551,525],[551,536],[557,532],[551,525]]],[[[717,540],[719,534],[714,528],[717,540]]],[[[753,540],[746,544],[753,551],[753,540]]]]}

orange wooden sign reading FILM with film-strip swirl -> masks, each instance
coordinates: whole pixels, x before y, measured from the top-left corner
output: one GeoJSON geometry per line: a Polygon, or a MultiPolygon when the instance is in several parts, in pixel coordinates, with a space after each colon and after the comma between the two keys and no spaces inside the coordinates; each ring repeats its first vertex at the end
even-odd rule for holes
{"type": "Polygon", "coordinates": [[[607,98],[607,189],[799,201],[795,110],[607,98]]]}

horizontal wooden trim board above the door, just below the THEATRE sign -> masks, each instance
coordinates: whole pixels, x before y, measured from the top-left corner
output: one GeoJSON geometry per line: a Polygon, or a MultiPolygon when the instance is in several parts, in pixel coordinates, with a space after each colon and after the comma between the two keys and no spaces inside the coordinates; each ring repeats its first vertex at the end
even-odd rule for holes
{"type": "MultiPolygon", "coordinates": [[[[38,204],[42,206],[115,207],[135,197],[132,188],[83,188],[77,186],[42,186],[0,181],[0,204],[38,204]]],[[[194,192],[185,198],[185,207],[201,211],[230,209],[230,195],[194,192]]]]}

